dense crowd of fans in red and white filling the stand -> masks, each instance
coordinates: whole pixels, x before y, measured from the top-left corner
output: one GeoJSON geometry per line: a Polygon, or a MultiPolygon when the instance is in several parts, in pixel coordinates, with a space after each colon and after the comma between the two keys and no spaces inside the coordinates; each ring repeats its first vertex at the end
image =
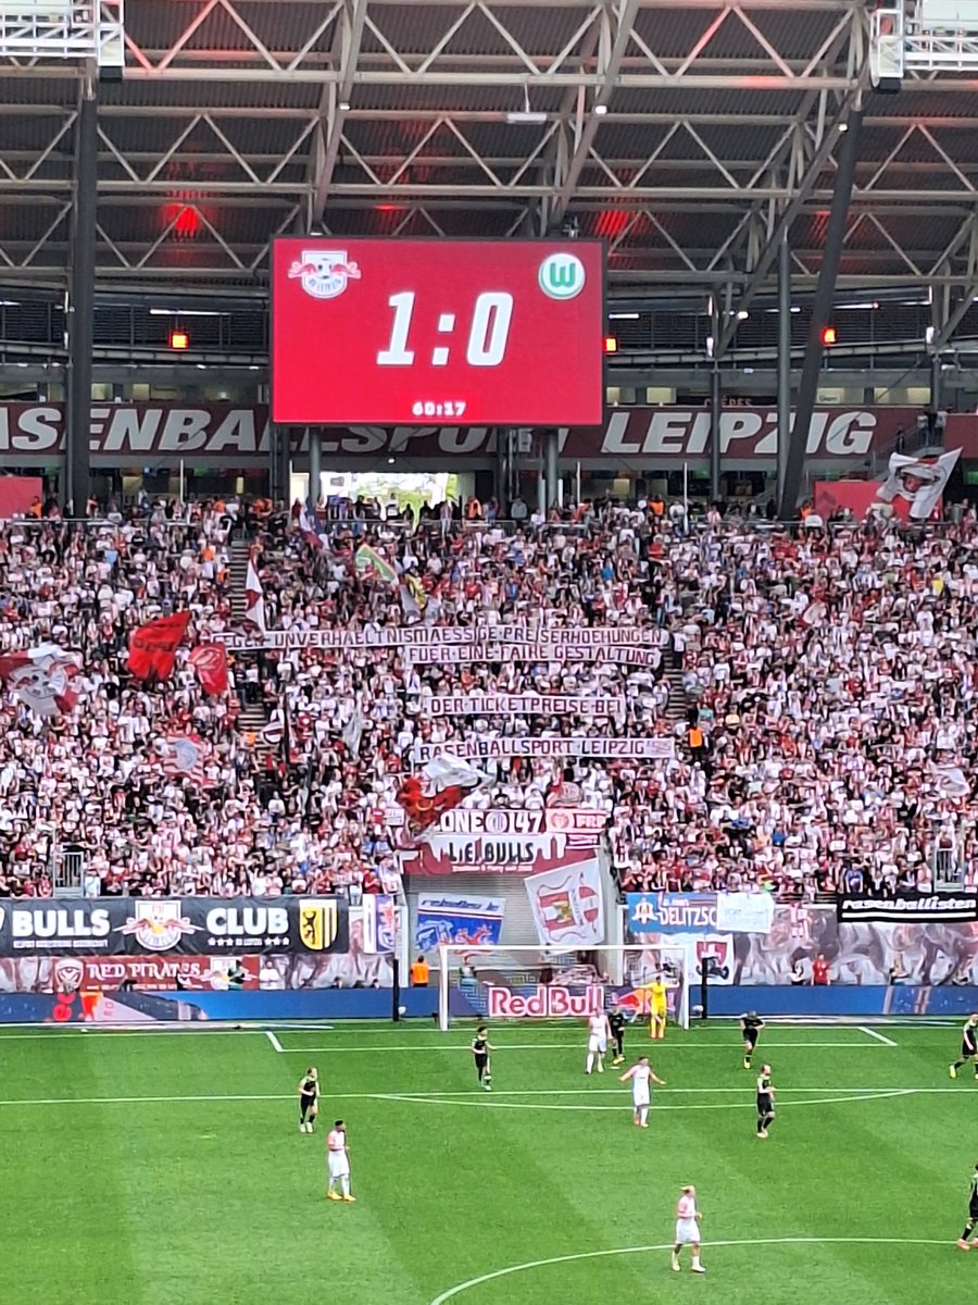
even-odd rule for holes
{"type": "Polygon", "coordinates": [[[85,525],[5,523],[0,652],[57,646],[80,669],[48,716],[7,677],[0,894],[51,894],[52,840],[81,846],[90,895],[377,891],[417,744],[597,728],[587,711],[429,713],[455,692],[623,698],[622,735],[674,740],[662,760],[488,762],[469,799],[539,809],[570,791],[604,809],[623,889],[889,895],[926,890],[940,847],[973,883],[974,513],[934,532],[790,531],[660,506],[473,527],[458,513],[313,522],[297,505],[146,502],[85,525]],[[236,624],[235,531],[252,540],[270,630],[621,624],[652,632],[653,664],[296,649],[232,658],[227,694],[207,696],[192,658],[236,624]],[[357,568],[364,543],[391,574],[357,568]],[[172,676],[133,679],[132,632],[179,611],[190,624],[172,676]],[[274,746],[243,720],[256,705],[274,746]],[[188,731],[198,754],[183,771],[167,740],[188,731]]]}

